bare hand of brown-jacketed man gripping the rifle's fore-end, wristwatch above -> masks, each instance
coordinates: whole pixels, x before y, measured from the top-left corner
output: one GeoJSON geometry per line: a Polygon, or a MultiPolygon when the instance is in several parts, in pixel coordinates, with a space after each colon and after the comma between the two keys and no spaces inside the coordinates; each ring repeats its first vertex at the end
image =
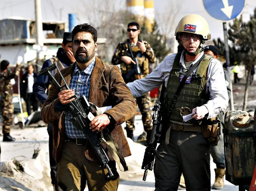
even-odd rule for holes
{"type": "Polygon", "coordinates": [[[110,123],[106,114],[97,115],[90,123],[90,129],[95,132],[101,132],[110,123]]]}

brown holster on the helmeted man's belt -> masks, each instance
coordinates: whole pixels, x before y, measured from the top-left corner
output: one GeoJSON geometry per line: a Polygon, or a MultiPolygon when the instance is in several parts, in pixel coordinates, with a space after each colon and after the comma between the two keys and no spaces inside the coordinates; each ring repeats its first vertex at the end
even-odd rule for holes
{"type": "Polygon", "coordinates": [[[217,117],[207,120],[206,124],[203,124],[202,134],[210,145],[218,145],[220,137],[220,120],[217,117]]]}

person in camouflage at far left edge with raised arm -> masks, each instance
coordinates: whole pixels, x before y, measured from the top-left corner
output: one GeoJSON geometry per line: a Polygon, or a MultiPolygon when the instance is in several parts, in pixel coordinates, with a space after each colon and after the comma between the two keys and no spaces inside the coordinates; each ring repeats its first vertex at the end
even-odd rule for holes
{"type": "Polygon", "coordinates": [[[14,105],[12,102],[13,89],[11,79],[19,75],[21,62],[22,57],[19,56],[14,71],[10,71],[9,62],[7,60],[3,60],[0,63],[0,105],[3,117],[3,141],[15,141],[15,138],[10,136],[10,129],[14,120],[14,105]]]}

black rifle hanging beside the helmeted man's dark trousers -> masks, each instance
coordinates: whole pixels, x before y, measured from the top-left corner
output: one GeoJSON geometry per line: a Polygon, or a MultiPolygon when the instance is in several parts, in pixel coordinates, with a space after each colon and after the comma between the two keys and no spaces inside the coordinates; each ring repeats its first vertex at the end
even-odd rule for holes
{"type": "Polygon", "coordinates": [[[141,166],[141,169],[145,169],[144,175],[143,175],[143,181],[145,181],[147,178],[147,170],[153,169],[157,142],[159,142],[160,136],[161,136],[162,113],[161,113],[161,102],[159,100],[155,102],[153,112],[154,112],[152,116],[153,127],[151,131],[150,140],[147,143],[147,148],[145,150],[145,154],[144,154],[144,158],[141,166]]]}

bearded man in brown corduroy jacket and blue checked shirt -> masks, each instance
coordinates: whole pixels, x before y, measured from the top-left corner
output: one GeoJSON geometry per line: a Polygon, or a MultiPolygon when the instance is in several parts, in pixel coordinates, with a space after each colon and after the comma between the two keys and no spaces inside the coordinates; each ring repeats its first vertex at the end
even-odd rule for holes
{"type": "MultiPolygon", "coordinates": [[[[107,169],[99,167],[87,135],[69,121],[71,116],[65,112],[65,105],[74,100],[74,95],[85,95],[98,107],[112,106],[96,116],[89,124],[90,128],[97,133],[108,128],[121,155],[131,155],[121,123],[133,117],[136,103],[119,68],[104,64],[95,57],[97,49],[97,30],[93,26],[81,24],[73,29],[72,51],[76,62],[61,71],[70,90],[60,91],[53,81],[42,107],[42,119],[53,125],[53,156],[58,163],[56,185],[62,190],[83,191],[87,181],[89,191],[115,191],[119,184],[115,161],[109,162],[115,176],[108,179],[107,169]],[[59,111],[60,108],[64,108],[63,112],[59,111]]],[[[55,77],[64,85],[59,73],[55,77]]],[[[113,160],[109,152],[108,155],[113,160]]]]}

